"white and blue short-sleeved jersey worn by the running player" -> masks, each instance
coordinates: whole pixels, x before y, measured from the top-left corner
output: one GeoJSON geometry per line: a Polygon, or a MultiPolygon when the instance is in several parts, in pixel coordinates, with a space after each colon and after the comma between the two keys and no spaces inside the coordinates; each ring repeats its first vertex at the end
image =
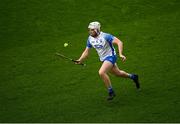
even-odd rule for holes
{"type": "MultiPolygon", "coordinates": [[[[116,51],[113,47],[114,36],[101,32],[98,37],[88,37],[87,47],[94,47],[99,55],[100,61],[105,61],[108,57],[116,57],[116,51]]],[[[113,63],[114,64],[114,63],[113,63]]]]}

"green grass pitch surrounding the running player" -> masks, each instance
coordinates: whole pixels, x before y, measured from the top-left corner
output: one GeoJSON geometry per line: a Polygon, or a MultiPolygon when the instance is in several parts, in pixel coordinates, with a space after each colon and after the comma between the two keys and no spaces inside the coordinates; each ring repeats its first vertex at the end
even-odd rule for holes
{"type": "Polygon", "coordinates": [[[179,49],[179,0],[1,0],[0,122],[180,122],[179,49]],[[123,41],[117,63],[141,91],[111,75],[107,102],[94,49],[86,67],[54,55],[77,59],[96,20],[123,41]]]}

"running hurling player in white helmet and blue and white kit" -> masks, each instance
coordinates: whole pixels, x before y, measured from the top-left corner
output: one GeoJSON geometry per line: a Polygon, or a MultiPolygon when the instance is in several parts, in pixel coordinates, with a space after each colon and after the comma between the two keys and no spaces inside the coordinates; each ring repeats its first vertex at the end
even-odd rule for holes
{"type": "Polygon", "coordinates": [[[123,70],[120,70],[116,64],[116,52],[113,47],[113,44],[118,46],[119,56],[124,62],[126,57],[123,55],[123,43],[116,38],[115,36],[104,33],[100,31],[100,23],[99,22],[91,22],[88,26],[89,29],[89,37],[87,40],[87,46],[81,57],[77,60],[76,64],[81,64],[84,59],[89,55],[90,49],[93,47],[96,49],[100,61],[102,62],[102,66],[99,69],[99,75],[101,79],[104,81],[105,86],[109,92],[109,96],[107,100],[112,100],[115,97],[115,92],[111,85],[111,80],[108,76],[108,72],[123,78],[132,79],[136,85],[136,88],[140,88],[140,84],[138,81],[138,75],[129,74],[123,70]]]}

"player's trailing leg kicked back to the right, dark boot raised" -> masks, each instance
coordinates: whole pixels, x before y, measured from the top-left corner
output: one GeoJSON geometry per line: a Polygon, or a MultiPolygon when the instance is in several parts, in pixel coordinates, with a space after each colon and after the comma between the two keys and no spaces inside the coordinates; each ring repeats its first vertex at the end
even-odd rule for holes
{"type": "Polygon", "coordinates": [[[138,75],[136,75],[136,74],[129,74],[129,73],[123,71],[123,70],[120,70],[116,63],[114,64],[114,66],[112,67],[110,72],[112,74],[118,76],[118,77],[124,77],[124,78],[132,79],[134,81],[134,83],[136,84],[137,89],[140,88],[138,75]]]}

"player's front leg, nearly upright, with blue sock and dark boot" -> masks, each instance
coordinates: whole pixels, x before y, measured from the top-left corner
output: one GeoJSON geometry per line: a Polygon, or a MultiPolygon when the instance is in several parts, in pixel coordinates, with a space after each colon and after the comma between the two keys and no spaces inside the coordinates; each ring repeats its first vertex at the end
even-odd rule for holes
{"type": "Polygon", "coordinates": [[[111,80],[107,74],[112,69],[112,67],[113,64],[110,61],[104,61],[101,68],[99,69],[99,76],[103,80],[109,92],[109,97],[107,100],[112,100],[115,96],[114,91],[112,89],[111,80]]]}

